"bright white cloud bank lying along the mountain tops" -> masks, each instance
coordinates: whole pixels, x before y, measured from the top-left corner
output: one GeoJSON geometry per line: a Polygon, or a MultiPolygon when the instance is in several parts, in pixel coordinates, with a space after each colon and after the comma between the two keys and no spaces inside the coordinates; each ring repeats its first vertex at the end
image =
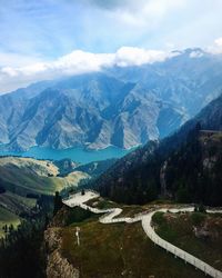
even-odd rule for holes
{"type": "Polygon", "coordinates": [[[75,50],[54,61],[36,62],[23,67],[2,67],[0,69],[0,90],[6,92],[38,80],[100,71],[104,67],[153,63],[172,56],[168,51],[132,47],[122,47],[115,53],[91,53],[75,50]]]}

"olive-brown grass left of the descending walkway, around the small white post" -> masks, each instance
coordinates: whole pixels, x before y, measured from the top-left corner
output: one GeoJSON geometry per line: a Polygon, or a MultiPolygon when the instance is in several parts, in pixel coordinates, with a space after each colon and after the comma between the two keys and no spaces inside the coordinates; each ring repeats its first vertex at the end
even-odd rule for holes
{"type": "Polygon", "coordinates": [[[62,229],[61,251],[80,269],[81,278],[204,277],[192,266],[154,246],[140,222],[83,222],[80,226],[80,246],[77,246],[74,232],[75,226],[62,229]]]}

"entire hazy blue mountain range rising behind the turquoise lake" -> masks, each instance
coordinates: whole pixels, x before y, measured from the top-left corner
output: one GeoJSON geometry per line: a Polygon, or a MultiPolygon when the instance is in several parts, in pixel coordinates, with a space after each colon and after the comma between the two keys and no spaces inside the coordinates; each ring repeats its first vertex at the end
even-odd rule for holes
{"type": "Polygon", "coordinates": [[[222,90],[222,57],[201,49],[164,62],[42,81],[0,97],[0,143],[132,148],[176,130],[222,90]]]}

